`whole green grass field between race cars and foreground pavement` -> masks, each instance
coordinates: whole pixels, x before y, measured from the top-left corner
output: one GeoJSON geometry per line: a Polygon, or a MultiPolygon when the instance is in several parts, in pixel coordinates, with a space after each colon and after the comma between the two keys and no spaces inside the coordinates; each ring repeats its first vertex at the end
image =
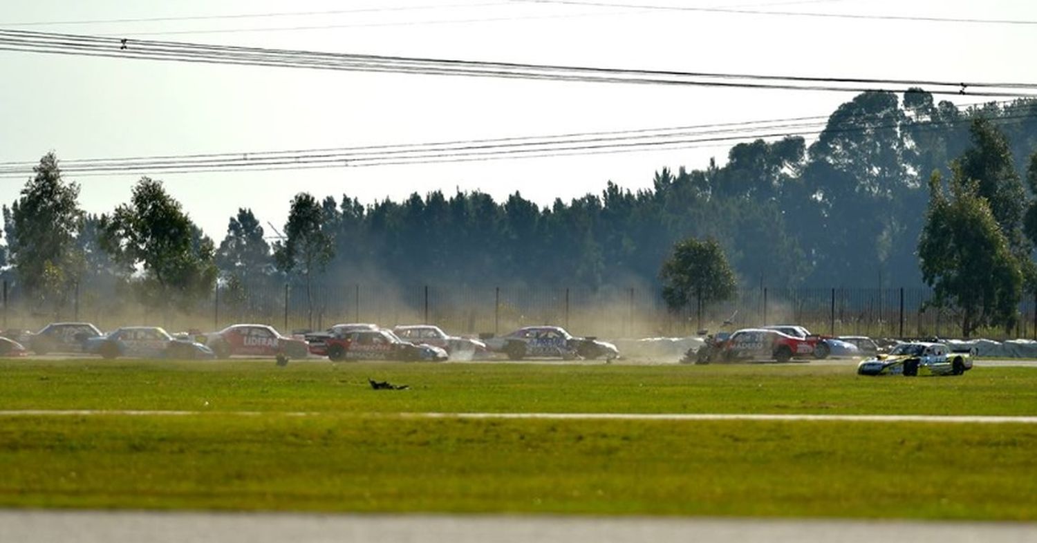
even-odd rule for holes
{"type": "Polygon", "coordinates": [[[0,506],[1037,519],[1037,425],[396,416],[1037,416],[1030,368],[0,361],[25,409],[197,412],[0,416],[0,506]]]}

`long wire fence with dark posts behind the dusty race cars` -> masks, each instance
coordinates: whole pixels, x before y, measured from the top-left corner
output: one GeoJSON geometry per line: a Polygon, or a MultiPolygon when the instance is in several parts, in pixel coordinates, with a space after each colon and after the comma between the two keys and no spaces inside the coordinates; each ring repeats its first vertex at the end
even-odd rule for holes
{"type": "MultiPolygon", "coordinates": [[[[309,301],[299,284],[222,285],[190,308],[158,309],[135,292],[82,285],[63,304],[34,304],[4,285],[2,328],[38,330],[47,322],[86,320],[102,330],[161,325],[169,331],[219,330],[235,322],[272,324],[283,332],[323,330],[339,322],[438,324],[454,334],[507,334],[529,324],[559,324],[605,338],[691,336],[763,324],[801,324],[817,334],[873,337],[958,337],[952,311],[929,304],[926,288],[745,289],[735,299],[671,312],[650,288],[388,287],[362,283],[314,285],[309,301]]],[[[1012,331],[981,330],[974,337],[1037,339],[1037,302],[1019,305],[1012,331]]]]}

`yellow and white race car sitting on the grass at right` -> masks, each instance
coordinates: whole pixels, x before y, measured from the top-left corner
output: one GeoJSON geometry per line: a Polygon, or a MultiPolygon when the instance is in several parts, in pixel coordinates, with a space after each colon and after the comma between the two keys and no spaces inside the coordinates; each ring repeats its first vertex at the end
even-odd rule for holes
{"type": "Polygon", "coordinates": [[[943,343],[901,343],[889,354],[878,354],[857,365],[858,375],[961,375],[972,369],[969,349],[951,350],[943,343]]]}

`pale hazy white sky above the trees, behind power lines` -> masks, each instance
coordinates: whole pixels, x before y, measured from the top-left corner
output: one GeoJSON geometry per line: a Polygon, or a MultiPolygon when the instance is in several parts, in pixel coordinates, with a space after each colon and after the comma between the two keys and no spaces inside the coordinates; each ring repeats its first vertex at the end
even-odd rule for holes
{"type": "MultiPolygon", "coordinates": [[[[699,73],[1037,83],[1037,25],[789,15],[1037,21],[1037,3],[1019,0],[599,0],[595,5],[518,0],[0,0],[0,29],[129,39],[699,73]],[[658,8],[664,6],[785,15],[658,8]],[[332,10],[341,12],[327,12],[332,10]],[[299,15],[304,11],[311,15],[299,15]],[[111,20],[121,21],[99,22],[111,20]]],[[[0,163],[34,162],[48,151],[59,160],[255,152],[782,119],[828,115],[853,95],[199,65],[6,51],[0,51],[0,163]]],[[[968,96],[950,99],[980,102],[968,96]]],[[[556,198],[599,194],[609,180],[630,190],[646,189],[664,167],[703,168],[710,158],[723,164],[730,145],[152,176],[219,242],[239,207],[252,208],[264,224],[280,229],[299,192],[337,199],[347,194],[369,204],[435,190],[448,196],[478,190],[500,201],[518,191],[549,205],[556,198]]],[[[130,199],[141,175],[149,172],[67,178],[80,183],[85,210],[108,212],[130,199]]],[[[0,178],[0,203],[10,205],[28,177],[0,178]]]]}

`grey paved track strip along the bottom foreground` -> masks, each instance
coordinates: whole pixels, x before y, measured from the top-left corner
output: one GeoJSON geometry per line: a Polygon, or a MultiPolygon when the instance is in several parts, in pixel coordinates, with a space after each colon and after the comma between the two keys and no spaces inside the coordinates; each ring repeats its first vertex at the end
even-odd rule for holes
{"type": "Polygon", "coordinates": [[[43,543],[1037,542],[1037,524],[561,516],[0,511],[0,541],[43,543]]]}

